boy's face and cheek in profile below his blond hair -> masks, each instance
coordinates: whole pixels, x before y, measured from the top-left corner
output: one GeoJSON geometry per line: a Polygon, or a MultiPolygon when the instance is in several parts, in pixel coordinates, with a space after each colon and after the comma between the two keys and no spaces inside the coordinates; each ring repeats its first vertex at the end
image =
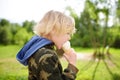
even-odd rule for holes
{"type": "Polygon", "coordinates": [[[70,34],[69,33],[65,33],[65,34],[60,34],[60,35],[53,35],[52,36],[52,41],[55,43],[56,47],[58,49],[61,49],[63,44],[70,40],[70,34]]]}

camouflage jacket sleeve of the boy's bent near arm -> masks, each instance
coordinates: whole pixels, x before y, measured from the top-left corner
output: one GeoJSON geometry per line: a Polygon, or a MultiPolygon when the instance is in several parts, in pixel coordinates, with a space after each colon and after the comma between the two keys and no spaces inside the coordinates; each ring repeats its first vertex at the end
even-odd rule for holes
{"type": "Polygon", "coordinates": [[[44,78],[47,75],[48,80],[75,80],[78,69],[72,64],[63,71],[60,61],[55,54],[46,53],[39,61],[41,76],[44,78]],[[44,58],[42,58],[44,57],[44,58]]]}

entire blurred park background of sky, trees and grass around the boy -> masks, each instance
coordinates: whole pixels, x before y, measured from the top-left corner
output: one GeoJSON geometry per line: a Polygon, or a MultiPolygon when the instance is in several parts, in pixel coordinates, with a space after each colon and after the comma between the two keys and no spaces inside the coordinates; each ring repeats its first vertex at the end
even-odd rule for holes
{"type": "Polygon", "coordinates": [[[0,0],[0,80],[27,79],[16,54],[49,10],[75,19],[76,80],[120,80],[120,0],[0,0]]]}

